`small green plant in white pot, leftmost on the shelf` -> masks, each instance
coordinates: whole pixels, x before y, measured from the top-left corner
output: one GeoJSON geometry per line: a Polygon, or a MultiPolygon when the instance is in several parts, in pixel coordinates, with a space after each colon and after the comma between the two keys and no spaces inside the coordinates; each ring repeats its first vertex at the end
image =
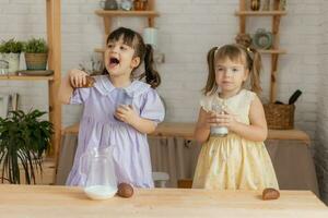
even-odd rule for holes
{"type": "Polygon", "coordinates": [[[20,69],[20,57],[23,50],[23,43],[14,38],[2,40],[0,44],[0,60],[7,63],[7,73],[15,73],[20,69]]]}

